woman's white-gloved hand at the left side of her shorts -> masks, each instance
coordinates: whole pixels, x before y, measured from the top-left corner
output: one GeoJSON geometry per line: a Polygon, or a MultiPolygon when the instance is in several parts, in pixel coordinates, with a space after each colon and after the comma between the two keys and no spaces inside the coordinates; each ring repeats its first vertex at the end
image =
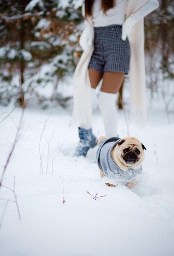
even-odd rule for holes
{"type": "Polygon", "coordinates": [[[85,50],[87,47],[92,46],[93,40],[94,40],[94,31],[90,29],[90,27],[86,27],[79,39],[79,45],[83,50],[85,50]]]}

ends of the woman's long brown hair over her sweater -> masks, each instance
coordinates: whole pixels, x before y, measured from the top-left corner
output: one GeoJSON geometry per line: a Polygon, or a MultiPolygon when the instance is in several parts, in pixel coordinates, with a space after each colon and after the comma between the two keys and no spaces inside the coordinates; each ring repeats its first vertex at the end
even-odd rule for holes
{"type": "MultiPolygon", "coordinates": [[[[94,1],[95,0],[85,0],[85,17],[92,15],[94,1]]],[[[101,0],[101,9],[105,14],[106,14],[106,11],[113,8],[114,6],[115,6],[115,0],[101,0]]]]}

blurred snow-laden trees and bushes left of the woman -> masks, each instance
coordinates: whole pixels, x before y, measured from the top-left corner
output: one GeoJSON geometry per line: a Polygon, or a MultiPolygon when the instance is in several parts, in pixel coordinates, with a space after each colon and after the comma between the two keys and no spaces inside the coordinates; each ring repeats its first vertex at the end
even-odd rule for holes
{"type": "Polygon", "coordinates": [[[64,105],[57,86],[75,69],[81,5],[77,0],[0,0],[1,104],[13,97],[21,103],[22,90],[40,102],[55,99],[64,105]],[[42,95],[45,87],[50,93],[42,95]]]}

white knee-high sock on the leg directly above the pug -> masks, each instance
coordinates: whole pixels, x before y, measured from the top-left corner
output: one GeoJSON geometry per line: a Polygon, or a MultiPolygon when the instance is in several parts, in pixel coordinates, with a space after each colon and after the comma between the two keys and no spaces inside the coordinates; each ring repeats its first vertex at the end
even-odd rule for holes
{"type": "Polygon", "coordinates": [[[116,109],[117,94],[108,92],[99,92],[98,106],[104,120],[104,128],[106,137],[117,137],[117,109],[116,109]]]}

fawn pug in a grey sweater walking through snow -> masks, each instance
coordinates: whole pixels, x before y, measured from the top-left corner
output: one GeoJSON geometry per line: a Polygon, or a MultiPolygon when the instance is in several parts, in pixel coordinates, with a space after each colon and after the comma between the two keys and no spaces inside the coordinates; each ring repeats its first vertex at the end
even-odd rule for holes
{"type": "Polygon", "coordinates": [[[98,140],[97,164],[101,177],[114,177],[132,189],[142,172],[145,146],[134,137],[101,136],[98,140]]]}

